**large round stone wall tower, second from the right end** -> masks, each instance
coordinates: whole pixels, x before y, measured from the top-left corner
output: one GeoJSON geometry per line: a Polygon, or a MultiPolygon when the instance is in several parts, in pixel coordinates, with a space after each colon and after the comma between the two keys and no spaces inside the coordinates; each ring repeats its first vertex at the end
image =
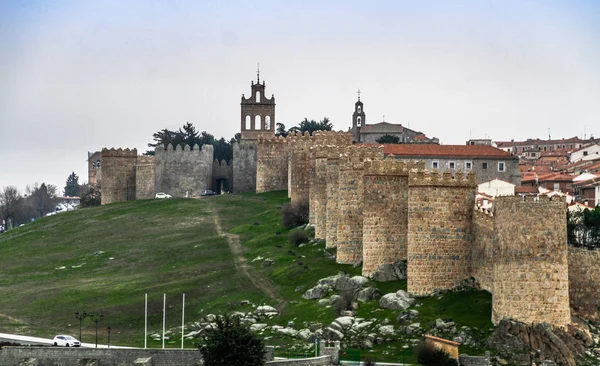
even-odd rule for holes
{"type": "Polygon", "coordinates": [[[469,277],[475,177],[409,176],[408,292],[428,295],[469,277]]]}

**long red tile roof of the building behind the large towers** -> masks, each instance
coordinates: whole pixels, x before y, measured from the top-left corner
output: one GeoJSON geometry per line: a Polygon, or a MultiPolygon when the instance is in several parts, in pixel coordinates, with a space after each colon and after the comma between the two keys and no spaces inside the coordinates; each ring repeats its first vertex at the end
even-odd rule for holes
{"type": "Polygon", "coordinates": [[[417,157],[518,159],[511,153],[486,145],[384,144],[383,153],[384,155],[417,157]]]}

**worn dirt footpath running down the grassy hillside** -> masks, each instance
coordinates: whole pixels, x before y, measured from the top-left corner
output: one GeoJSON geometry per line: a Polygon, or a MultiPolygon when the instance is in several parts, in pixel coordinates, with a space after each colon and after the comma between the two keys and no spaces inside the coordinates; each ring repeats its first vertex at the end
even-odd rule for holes
{"type": "Polygon", "coordinates": [[[210,207],[210,209],[213,215],[217,233],[219,236],[227,239],[227,244],[229,245],[229,250],[233,255],[233,262],[237,271],[244,277],[248,278],[250,282],[256,286],[256,288],[260,289],[271,299],[277,301],[279,303],[277,305],[277,310],[279,311],[279,314],[283,313],[285,307],[287,306],[287,300],[279,295],[279,291],[275,285],[273,285],[271,280],[248,265],[248,262],[244,257],[244,248],[240,242],[239,235],[224,232],[223,228],[221,227],[219,213],[214,209],[214,207],[210,207]]]}

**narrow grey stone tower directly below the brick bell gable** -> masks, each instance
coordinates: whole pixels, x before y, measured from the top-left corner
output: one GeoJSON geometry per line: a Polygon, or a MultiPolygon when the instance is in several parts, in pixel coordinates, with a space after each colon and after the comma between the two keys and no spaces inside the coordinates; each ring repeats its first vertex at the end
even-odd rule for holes
{"type": "Polygon", "coordinates": [[[257,190],[257,151],[255,141],[241,141],[233,145],[233,192],[257,190]]]}

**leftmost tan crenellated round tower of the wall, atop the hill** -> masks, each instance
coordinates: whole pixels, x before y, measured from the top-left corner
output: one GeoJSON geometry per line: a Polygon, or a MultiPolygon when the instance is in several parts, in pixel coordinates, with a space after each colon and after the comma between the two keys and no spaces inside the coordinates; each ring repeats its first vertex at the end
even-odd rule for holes
{"type": "Polygon", "coordinates": [[[102,204],[135,199],[136,149],[102,149],[102,204]]]}

